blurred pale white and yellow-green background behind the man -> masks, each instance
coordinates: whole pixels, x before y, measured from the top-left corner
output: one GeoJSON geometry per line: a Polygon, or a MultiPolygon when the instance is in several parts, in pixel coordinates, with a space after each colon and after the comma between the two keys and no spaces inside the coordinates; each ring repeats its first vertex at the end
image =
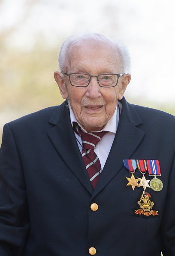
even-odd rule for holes
{"type": "Polygon", "coordinates": [[[0,144],[4,123],[63,102],[53,72],[75,32],[127,44],[127,100],[175,114],[174,8],[172,0],[0,0],[0,144]]]}

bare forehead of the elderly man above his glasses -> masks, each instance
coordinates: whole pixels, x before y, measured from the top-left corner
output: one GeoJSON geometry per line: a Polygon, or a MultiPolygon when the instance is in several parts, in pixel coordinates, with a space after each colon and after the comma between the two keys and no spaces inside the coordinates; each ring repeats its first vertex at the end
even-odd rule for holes
{"type": "Polygon", "coordinates": [[[116,72],[120,66],[118,52],[113,45],[93,40],[72,44],[68,54],[68,68],[71,72],[99,70],[116,72]],[[112,71],[113,70],[113,71],[112,71]]]}

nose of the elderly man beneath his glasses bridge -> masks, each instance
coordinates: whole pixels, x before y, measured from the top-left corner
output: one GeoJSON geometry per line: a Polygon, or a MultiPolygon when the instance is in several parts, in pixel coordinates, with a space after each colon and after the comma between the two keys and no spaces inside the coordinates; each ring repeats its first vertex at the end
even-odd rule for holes
{"type": "Polygon", "coordinates": [[[86,96],[91,99],[97,99],[101,96],[100,89],[101,87],[97,82],[97,77],[91,77],[91,81],[87,86],[86,96]]]}

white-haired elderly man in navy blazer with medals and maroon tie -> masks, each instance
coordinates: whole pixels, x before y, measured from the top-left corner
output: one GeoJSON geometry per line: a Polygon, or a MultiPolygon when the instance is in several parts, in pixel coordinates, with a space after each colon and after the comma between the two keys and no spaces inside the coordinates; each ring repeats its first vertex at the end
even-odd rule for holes
{"type": "Polygon", "coordinates": [[[127,103],[129,63],[103,35],[68,38],[65,102],[4,126],[0,256],[175,256],[175,118],[127,103]]]}

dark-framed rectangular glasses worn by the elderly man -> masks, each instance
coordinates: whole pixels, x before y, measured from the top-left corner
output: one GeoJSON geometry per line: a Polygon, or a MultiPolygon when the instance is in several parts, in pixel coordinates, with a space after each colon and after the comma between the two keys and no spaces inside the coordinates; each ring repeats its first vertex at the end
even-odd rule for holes
{"type": "Polygon", "coordinates": [[[70,84],[76,87],[87,87],[91,82],[92,77],[97,78],[100,87],[115,87],[118,83],[118,78],[123,74],[103,74],[103,75],[87,75],[81,73],[63,73],[69,77],[70,84]]]}

